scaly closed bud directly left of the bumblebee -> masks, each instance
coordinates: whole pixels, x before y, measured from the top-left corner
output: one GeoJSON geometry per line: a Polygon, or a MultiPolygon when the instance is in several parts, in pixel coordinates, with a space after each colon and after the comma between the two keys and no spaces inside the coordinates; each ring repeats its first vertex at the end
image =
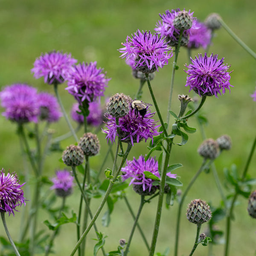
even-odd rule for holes
{"type": "Polygon", "coordinates": [[[132,100],[130,96],[116,93],[107,103],[107,111],[111,116],[121,117],[128,114],[132,100]]]}

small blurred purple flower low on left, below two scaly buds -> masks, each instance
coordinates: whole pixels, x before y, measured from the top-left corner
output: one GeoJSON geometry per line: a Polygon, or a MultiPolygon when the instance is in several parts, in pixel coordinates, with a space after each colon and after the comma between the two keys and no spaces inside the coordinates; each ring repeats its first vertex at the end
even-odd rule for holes
{"type": "Polygon", "coordinates": [[[66,197],[73,192],[74,177],[67,170],[56,171],[56,176],[52,178],[53,186],[51,189],[55,189],[56,195],[60,197],[66,197]]]}

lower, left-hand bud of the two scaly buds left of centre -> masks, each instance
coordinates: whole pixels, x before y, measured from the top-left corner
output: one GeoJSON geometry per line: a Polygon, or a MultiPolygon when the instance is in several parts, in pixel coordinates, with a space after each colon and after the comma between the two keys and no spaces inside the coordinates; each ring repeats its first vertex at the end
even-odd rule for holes
{"type": "Polygon", "coordinates": [[[70,145],[63,151],[62,160],[67,166],[79,166],[84,162],[84,152],[79,146],[70,145]]]}

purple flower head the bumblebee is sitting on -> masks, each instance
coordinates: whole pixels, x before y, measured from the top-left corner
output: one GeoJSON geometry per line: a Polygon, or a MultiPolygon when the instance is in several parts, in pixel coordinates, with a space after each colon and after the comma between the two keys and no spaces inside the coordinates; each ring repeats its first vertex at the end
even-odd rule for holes
{"type": "MultiPolygon", "coordinates": [[[[160,132],[157,131],[157,128],[160,125],[156,125],[156,121],[151,119],[155,114],[151,113],[147,107],[147,113],[143,116],[137,115],[134,109],[130,108],[130,111],[127,115],[119,117],[119,125],[120,128],[120,137],[123,142],[131,143],[134,145],[135,143],[139,143],[141,140],[148,139],[153,140],[153,136],[157,136],[160,132]]],[[[116,118],[114,116],[105,113],[105,117],[108,122],[106,123],[106,127],[108,130],[104,131],[111,142],[115,140],[117,136],[117,125],[116,118]]]]}

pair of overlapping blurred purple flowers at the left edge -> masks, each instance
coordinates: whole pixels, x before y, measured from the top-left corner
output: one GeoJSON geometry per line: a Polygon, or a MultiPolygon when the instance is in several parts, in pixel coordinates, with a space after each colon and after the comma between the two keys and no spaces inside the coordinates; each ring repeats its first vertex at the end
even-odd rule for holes
{"type": "Polygon", "coordinates": [[[18,123],[38,122],[38,117],[48,122],[56,122],[61,117],[59,105],[49,93],[37,93],[27,84],[6,86],[0,92],[3,116],[18,123]]]}

